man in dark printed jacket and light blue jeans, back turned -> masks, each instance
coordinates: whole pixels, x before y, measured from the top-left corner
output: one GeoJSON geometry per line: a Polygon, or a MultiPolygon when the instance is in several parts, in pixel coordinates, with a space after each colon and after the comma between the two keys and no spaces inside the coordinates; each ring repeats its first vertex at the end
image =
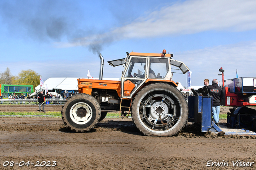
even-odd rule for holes
{"type": "Polygon", "coordinates": [[[213,79],[212,85],[208,85],[207,89],[209,94],[212,96],[212,117],[214,123],[219,127],[220,103],[223,97],[222,88],[218,86],[218,80],[213,79]]]}

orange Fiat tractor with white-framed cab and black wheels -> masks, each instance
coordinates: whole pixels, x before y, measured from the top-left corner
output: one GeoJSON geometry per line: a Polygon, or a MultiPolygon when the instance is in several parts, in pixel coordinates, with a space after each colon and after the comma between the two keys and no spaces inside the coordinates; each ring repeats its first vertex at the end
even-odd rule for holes
{"type": "Polygon", "coordinates": [[[100,54],[100,78],[78,79],[79,93],[62,107],[62,120],[71,130],[85,132],[106,117],[109,111],[120,116],[131,114],[136,127],[148,136],[171,136],[184,127],[188,105],[172,81],[171,66],[183,74],[189,71],[172,54],[128,53],[125,58],[108,61],[125,67],[121,81],[102,80],[104,59],[100,54]],[[127,113],[128,112],[128,113],[127,113]]]}

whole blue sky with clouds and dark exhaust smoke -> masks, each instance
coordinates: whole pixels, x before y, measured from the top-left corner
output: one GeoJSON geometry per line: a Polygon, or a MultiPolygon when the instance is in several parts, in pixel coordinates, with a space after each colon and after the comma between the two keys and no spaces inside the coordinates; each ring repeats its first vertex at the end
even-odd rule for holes
{"type": "MultiPolygon", "coordinates": [[[[0,71],[49,77],[121,77],[107,61],[128,52],[173,53],[204,79],[256,77],[255,0],[1,0],[0,71]]],[[[186,86],[186,75],[173,80],[186,86]]],[[[211,83],[210,83],[211,84],[211,83]]]]}

